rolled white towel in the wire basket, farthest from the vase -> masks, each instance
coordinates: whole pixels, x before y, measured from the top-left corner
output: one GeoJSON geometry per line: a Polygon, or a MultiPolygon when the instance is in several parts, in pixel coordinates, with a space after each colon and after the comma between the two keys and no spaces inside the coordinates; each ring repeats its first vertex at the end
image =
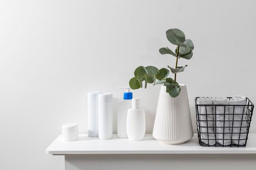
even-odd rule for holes
{"type": "MultiPolygon", "coordinates": [[[[245,105],[246,104],[246,97],[244,96],[234,96],[232,97],[232,99],[230,99],[229,104],[231,105],[245,105]]],[[[232,135],[232,142],[235,143],[236,145],[238,145],[238,141],[239,141],[239,145],[244,145],[245,144],[245,140],[238,140],[238,139],[246,139],[246,132],[247,132],[247,128],[245,126],[247,126],[246,121],[241,121],[241,120],[246,120],[246,115],[242,115],[244,113],[244,110],[246,109],[245,106],[235,106],[235,110],[234,110],[234,106],[229,106],[229,113],[233,114],[234,113],[234,122],[230,121],[229,126],[232,127],[233,125],[233,131],[232,128],[230,128],[230,132],[233,133],[238,133],[238,134],[233,134],[232,135]],[[238,121],[237,121],[238,120],[238,121]],[[241,126],[243,126],[244,128],[241,128],[241,126]],[[239,133],[245,133],[245,134],[240,134],[240,138],[239,138],[239,133]]],[[[230,120],[233,120],[233,115],[230,115],[229,117],[230,120]]]]}

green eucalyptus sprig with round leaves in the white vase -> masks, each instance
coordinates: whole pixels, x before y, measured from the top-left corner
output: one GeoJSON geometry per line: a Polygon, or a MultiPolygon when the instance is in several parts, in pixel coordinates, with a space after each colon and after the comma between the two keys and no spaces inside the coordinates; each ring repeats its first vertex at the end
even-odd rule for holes
{"type": "Polygon", "coordinates": [[[154,66],[139,66],[134,71],[133,78],[130,79],[129,85],[132,89],[142,88],[142,83],[145,82],[145,88],[148,84],[159,85],[163,84],[166,86],[166,92],[170,94],[171,97],[175,98],[180,93],[180,86],[176,82],[177,73],[184,71],[185,66],[178,66],[178,59],[191,59],[193,56],[194,44],[191,39],[186,39],[185,34],[179,29],[169,29],[166,31],[166,37],[173,45],[177,45],[176,51],[172,51],[168,47],[163,47],[159,49],[160,54],[170,54],[176,57],[175,68],[161,68],[158,69],[154,66]],[[169,73],[174,74],[174,80],[168,78],[169,73]]]}

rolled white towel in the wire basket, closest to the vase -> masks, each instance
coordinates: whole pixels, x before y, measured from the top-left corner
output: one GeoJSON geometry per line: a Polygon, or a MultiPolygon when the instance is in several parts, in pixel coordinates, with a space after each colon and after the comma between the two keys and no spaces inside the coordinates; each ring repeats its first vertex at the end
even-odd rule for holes
{"type": "MultiPolygon", "coordinates": [[[[213,104],[213,99],[198,98],[197,104],[213,104]]],[[[199,125],[200,125],[201,141],[203,141],[205,144],[208,144],[208,137],[209,137],[209,145],[214,145],[216,143],[216,140],[215,140],[216,138],[214,135],[213,106],[198,106],[198,113],[199,113],[198,116],[199,116],[199,122],[200,122],[199,125]],[[202,121],[202,120],[206,120],[206,114],[207,114],[207,121],[202,121]],[[207,127],[208,127],[208,131],[207,131],[207,127]],[[207,135],[207,133],[210,133],[208,134],[209,136],[207,135]]]]}

